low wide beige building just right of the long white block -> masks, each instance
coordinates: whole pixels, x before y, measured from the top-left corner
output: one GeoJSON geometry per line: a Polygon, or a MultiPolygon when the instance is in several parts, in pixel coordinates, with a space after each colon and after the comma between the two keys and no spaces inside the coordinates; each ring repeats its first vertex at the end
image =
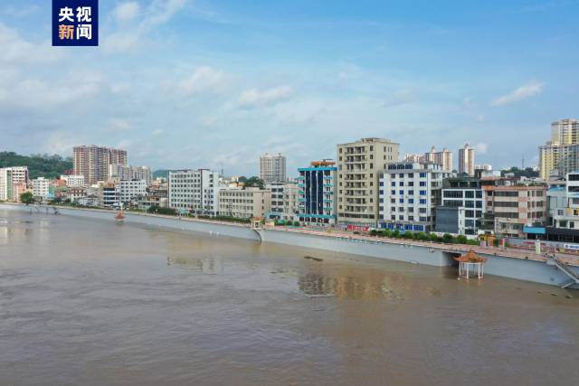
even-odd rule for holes
{"type": "Polygon", "coordinates": [[[222,189],[219,191],[221,216],[251,219],[265,217],[271,210],[271,191],[259,188],[222,189]]]}

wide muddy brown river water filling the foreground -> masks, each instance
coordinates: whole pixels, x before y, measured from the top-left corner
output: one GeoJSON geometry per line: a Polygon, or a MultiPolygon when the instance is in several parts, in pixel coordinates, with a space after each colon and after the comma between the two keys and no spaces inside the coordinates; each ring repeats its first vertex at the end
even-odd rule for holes
{"type": "Polygon", "coordinates": [[[579,291],[0,210],[0,385],[577,379],[579,291]]]}

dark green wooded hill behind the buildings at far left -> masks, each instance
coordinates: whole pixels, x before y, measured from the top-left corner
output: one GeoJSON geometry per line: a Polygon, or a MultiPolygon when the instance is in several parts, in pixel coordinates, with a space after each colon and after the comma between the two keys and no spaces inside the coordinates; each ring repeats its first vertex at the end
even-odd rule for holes
{"type": "Polygon", "coordinates": [[[72,159],[61,155],[17,155],[0,152],[0,167],[28,166],[31,179],[36,177],[57,178],[72,169],[72,159]]]}

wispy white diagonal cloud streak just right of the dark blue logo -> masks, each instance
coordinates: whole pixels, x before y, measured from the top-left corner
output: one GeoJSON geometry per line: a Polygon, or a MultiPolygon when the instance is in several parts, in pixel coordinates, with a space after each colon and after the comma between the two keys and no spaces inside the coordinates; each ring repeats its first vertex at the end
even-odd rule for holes
{"type": "MultiPolygon", "coordinates": [[[[186,2],[187,0],[153,0],[144,12],[137,12],[142,14],[142,17],[136,26],[121,28],[116,33],[110,34],[104,39],[103,48],[107,52],[123,52],[135,48],[148,32],[166,24],[186,2]]],[[[130,12],[126,12],[124,15],[129,14],[130,12]]]]}

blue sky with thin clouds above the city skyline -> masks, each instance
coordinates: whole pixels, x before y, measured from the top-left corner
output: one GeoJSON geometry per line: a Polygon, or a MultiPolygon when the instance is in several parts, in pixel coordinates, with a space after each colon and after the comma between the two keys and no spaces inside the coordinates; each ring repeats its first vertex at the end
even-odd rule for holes
{"type": "Polygon", "coordinates": [[[2,150],[256,174],[387,137],[505,167],[579,118],[579,1],[100,0],[98,48],[53,48],[50,5],[0,4],[2,150]]]}

